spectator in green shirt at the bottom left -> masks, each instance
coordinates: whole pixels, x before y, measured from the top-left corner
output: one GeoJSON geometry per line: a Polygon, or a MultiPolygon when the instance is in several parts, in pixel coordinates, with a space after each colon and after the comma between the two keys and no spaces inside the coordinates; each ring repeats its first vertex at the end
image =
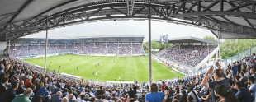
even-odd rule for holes
{"type": "Polygon", "coordinates": [[[31,97],[31,95],[32,95],[32,90],[31,90],[31,88],[27,88],[27,89],[24,91],[24,94],[17,95],[17,96],[12,100],[12,102],[31,102],[31,100],[29,100],[29,97],[31,97]]]}

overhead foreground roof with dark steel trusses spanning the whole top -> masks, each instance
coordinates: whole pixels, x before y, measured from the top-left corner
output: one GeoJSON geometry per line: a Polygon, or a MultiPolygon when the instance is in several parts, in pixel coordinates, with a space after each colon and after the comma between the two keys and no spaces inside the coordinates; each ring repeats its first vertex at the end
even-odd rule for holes
{"type": "Polygon", "coordinates": [[[0,10],[0,35],[7,39],[86,21],[149,17],[203,27],[222,39],[256,38],[254,0],[1,0],[0,10]]]}

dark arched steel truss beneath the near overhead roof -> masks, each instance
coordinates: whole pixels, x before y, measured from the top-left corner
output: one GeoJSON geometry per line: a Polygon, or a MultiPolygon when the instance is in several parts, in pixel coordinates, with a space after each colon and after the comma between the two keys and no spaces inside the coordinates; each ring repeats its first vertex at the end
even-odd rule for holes
{"type": "Polygon", "coordinates": [[[0,35],[7,35],[7,39],[30,35],[46,29],[69,26],[73,24],[120,20],[120,19],[142,19],[150,16],[153,20],[168,21],[177,24],[204,27],[209,30],[220,30],[230,33],[256,36],[254,26],[248,21],[256,19],[255,2],[235,0],[184,0],[183,2],[160,2],[158,0],[107,0],[92,2],[78,7],[57,12],[50,16],[27,19],[8,23],[6,29],[0,30],[0,35]],[[202,2],[211,2],[202,7],[202,2]],[[232,8],[225,9],[224,3],[229,3],[232,8]],[[219,5],[218,11],[211,10],[211,7],[219,5]],[[150,8],[150,9],[149,9],[150,8]],[[241,11],[247,8],[249,12],[241,11]],[[227,20],[228,16],[242,17],[250,26],[241,26],[232,21],[219,21],[211,16],[220,16],[227,20]]]}

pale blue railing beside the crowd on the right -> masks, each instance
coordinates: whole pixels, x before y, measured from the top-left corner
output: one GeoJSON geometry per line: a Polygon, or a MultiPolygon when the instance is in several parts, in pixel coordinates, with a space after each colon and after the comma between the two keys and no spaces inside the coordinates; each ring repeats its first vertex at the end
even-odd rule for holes
{"type": "MultiPolygon", "coordinates": [[[[252,54],[252,53],[256,53],[256,46],[254,46],[250,49],[247,49],[244,52],[238,53],[235,56],[232,56],[230,58],[220,60],[219,63],[221,65],[221,67],[227,67],[229,64],[235,63],[236,61],[238,61],[241,58],[249,57],[249,55],[252,54]]],[[[185,77],[197,76],[197,75],[200,75],[201,73],[207,72],[207,70],[211,67],[211,65],[214,65],[214,67],[216,68],[214,63],[212,63],[211,65],[210,64],[205,64],[205,65],[206,66],[202,67],[200,70],[187,73],[185,75],[185,77]]]]}

